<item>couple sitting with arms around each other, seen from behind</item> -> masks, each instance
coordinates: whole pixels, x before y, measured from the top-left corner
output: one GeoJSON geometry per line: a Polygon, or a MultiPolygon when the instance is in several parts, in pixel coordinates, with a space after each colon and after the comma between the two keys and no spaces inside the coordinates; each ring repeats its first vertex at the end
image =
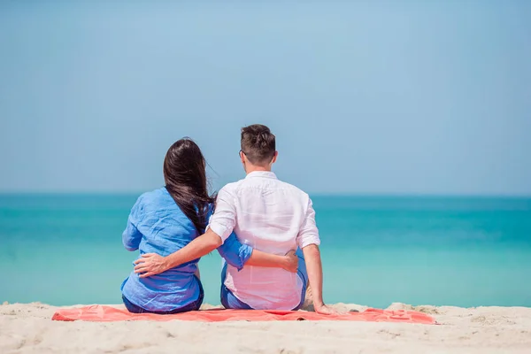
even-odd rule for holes
{"type": "Polygon", "coordinates": [[[198,310],[204,291],[197,263],[217,249],[226,262],[221,304],[227,309],[297,310],[312,284],[315,311],[335,313],[322,298],[312,201],[271,172],[277,151],[268,127],[242,128],[240,158],[247,176],[216,197],[208,195],[195,142],[181,139],[167,151],[165,188],[138,198],[122,237],[127,250],[141,255],[122,284],[129,312],[198,310]]]}

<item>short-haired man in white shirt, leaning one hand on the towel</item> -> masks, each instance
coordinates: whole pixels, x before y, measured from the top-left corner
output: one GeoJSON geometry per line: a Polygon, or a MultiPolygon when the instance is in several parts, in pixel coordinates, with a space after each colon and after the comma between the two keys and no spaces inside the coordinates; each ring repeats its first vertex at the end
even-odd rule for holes
{"type": "Polygon", "coordinates": [[[309,282],[315,311],[335,313],[322,297],[319,231],[312,200],[302,190],[279,181],[271,171],[278,157],[275,145],[268,127],[243,127],[240,158],[247,176],[219,190],[206,233],[165,258],[143,255],[136,261],[135,272],[150,276],[200,258],[218,248],[234,230],[240,242],[256,250],[284,255],[298,248],[305,262],[299,261],[297,273],[261,266],[243,266],[238,271],[226,265],[222,304],[239,309],[296,310],[304,303],[309,282]]]}

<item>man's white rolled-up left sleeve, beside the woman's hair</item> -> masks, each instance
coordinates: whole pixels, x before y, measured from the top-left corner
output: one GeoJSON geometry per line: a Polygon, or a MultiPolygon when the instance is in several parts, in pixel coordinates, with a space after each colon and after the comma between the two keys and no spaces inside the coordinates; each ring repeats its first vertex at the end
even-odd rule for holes
{"type": "Polygon", "coordinates": [[[229,235],[232,234],[236,225],[236,208],[235,196],[225,186],[219,190],[216,199],[216,211],[210,219],[208,228],[215,232],[225,242],[229,235]]]}

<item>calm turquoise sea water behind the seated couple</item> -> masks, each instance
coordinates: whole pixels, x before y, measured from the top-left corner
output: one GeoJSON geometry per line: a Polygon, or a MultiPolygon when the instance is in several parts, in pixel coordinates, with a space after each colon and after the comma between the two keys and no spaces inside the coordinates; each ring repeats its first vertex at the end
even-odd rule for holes
{"type": "MultiPolygon", "coordinates": [[[[0,302],[118,304],[136,196],[0,195],[0,302]]],[[[531,306],[531,199],[314,196],[325,299],[531,306]]],[[[217,254],[200,268],[219,304],[217,254]]]]}

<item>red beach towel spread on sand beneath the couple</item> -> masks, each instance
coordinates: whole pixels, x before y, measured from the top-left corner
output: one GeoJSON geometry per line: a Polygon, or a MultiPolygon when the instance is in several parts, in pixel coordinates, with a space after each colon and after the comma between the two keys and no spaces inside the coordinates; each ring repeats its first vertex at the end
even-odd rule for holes
{"type": "Polygon", "coordinates": [[[91,305],[75,309],[63,309],[56,312],[52,320],[60,321],[92,321],[112,322],[122,320],[152,320],[168,321],[173,319],[195,320],[204,322],[220,321],[272,321],[272,320],[352,320],[366,322],[405,322],[435,324],[435,319],[426,313],[413,311],[387,311],[367,309],[364,312],[349,312],[341,315],[321,315],[315,312],[303,311],[262,311],[262,310],[204,310],[176,313],[172,315],[157,315],[153,313],[131,313],[112,306],[91,305]]]}

